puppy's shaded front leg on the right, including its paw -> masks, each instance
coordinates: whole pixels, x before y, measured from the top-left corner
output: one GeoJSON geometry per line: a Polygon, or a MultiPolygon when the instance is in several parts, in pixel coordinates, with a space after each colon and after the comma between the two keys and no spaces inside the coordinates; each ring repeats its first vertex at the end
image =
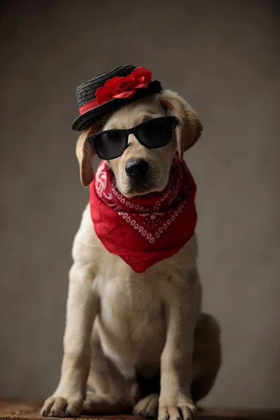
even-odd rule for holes
{"type": "Polygon", "coordinates": [[[174,278],[172,283],[165,299],[167,339],[160,360],[158,419],[190,420],[197,416],[190,396],[198,293],[195,270],[187,279],[174,278]]]}

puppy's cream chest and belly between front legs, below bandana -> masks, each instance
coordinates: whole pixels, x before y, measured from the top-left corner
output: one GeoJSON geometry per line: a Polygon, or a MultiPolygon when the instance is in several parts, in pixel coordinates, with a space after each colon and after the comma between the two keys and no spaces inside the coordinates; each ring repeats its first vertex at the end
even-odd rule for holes
{"type": "Polygon", "coordinates": [[[137,274],[111,255],[96,281],[101,303],[99,333],[106,353],[114,359],[118,354],[134,367],[142,360],[159,360],[165,343],[162,288],[167,286],[167,276],[155,269],[137,274]]]}

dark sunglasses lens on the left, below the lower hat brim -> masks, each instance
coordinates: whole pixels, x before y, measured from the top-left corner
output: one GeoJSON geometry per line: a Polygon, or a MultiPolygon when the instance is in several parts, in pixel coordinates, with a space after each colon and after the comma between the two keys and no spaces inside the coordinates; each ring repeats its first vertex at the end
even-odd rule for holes
{"type": "Polygon", "coordinates": [[[125,134],[114,130],[100,133],[94,139],[94,148],[99,158],[105,160],[118,158],[125,151],[125,134]]]}

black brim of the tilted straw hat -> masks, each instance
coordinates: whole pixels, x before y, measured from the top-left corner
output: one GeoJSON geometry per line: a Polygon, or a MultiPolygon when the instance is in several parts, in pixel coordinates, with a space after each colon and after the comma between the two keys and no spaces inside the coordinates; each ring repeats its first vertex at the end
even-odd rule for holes
{"type": "Polygon", "coordinates": [[[131,98],[112,99],[111,101],[106,102],[106,104],[97,106],[97,108],[91,109],[81,116],[78,116],[78,118],[76,118],[76,120],[71,125],[71,129],[76,131],[87,130],[87,128],[89,128],[94,123],[94,121],[97,121],[107,114],[116,111],[116,109],[130,104],[137,99],[145,98],[151,96],[151,94],[160,93],[161,91],[162,86],[160,85],[160,82],[158,80],[154,80],[153,82],[149,83],[148,87],[137,89],[131,98]]]}

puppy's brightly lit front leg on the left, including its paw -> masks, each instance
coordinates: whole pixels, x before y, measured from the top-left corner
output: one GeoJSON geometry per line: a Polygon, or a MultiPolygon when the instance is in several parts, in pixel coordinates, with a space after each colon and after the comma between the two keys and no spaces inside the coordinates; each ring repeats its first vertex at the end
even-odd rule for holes
{"type": "Polygon", "coordinates": [[[83,410],[87,375],[90,367],[90,335],[99,307],[92,290],[90,267],[75,262],[69,273],[64,357],[59,385],[48,398],[43,416],[78,416],[83,410]]]}

